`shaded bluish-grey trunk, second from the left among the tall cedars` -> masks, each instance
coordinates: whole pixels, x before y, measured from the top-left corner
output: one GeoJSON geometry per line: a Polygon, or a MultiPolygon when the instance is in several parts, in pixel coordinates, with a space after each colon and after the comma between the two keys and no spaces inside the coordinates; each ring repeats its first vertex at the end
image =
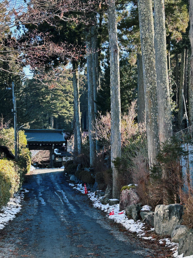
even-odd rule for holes
{"type": "Polygon", "coordinates": [[[90,167],[94,166],[96,156],[96,145],[94,142],[94,128],[92,122],[94,116],[94,93],[93,93],[93,78],[92,78],[92,53],[91,53],[91,37],[90,28],[86,36],[86,51],[87,51],[87,80],[88,80],[88,132],[90,145],[90,167]]]}

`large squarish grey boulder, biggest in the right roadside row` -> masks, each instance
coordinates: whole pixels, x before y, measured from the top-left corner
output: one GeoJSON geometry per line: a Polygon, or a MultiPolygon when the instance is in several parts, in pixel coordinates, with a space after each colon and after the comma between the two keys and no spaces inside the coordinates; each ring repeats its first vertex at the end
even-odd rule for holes
{"type": "Polygon", "coordinates": [[[157,205],[154,212],[154,228],[158,235],[170,235],[174,228],[182,223],[183,206],[181,204],[157,205]]]}

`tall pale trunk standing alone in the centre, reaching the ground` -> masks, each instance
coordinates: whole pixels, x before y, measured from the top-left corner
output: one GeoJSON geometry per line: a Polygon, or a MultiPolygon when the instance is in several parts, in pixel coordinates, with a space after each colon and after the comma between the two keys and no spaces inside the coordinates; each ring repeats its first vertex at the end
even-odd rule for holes
{"type": "Polygon", "coordinates": [[[115,0],[108,2],[108,31],[110,54],[110,89],[111,89],[111,167],[112,167],[112,198],[120,198],[118,168],[113,161],[121,157],[121,100],[119,74],[119,46],[117,40],[117,22],[115,0]]]}

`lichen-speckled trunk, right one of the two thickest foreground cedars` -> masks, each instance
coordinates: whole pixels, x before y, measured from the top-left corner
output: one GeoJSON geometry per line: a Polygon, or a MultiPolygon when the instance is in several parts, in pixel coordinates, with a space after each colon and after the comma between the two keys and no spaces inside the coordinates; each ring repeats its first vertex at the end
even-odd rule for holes
{"type": "Polygon", "coordinates": [[[162,143],[164,143],[167,139],[169,139],[169,137],[172,136],[172,116],[167,68],[164,0],[154,0],[154,23],[158,126],[160,145],[162,145],[162,143]]]}

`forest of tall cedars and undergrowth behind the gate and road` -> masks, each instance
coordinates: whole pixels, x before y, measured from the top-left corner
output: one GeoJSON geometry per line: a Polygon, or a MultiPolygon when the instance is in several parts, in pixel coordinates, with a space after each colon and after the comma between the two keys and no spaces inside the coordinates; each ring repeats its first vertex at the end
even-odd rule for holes
{"type": "Polygon", "coordinates": [[[132,181],[155,207],[185,199],[171,137],[193,122],[192,3],[145,2],[2,1],[0,110],[11,126],[14,81],[19,126],[74,132],[75,162],[101,190],[119,198],[132,181]]]}

